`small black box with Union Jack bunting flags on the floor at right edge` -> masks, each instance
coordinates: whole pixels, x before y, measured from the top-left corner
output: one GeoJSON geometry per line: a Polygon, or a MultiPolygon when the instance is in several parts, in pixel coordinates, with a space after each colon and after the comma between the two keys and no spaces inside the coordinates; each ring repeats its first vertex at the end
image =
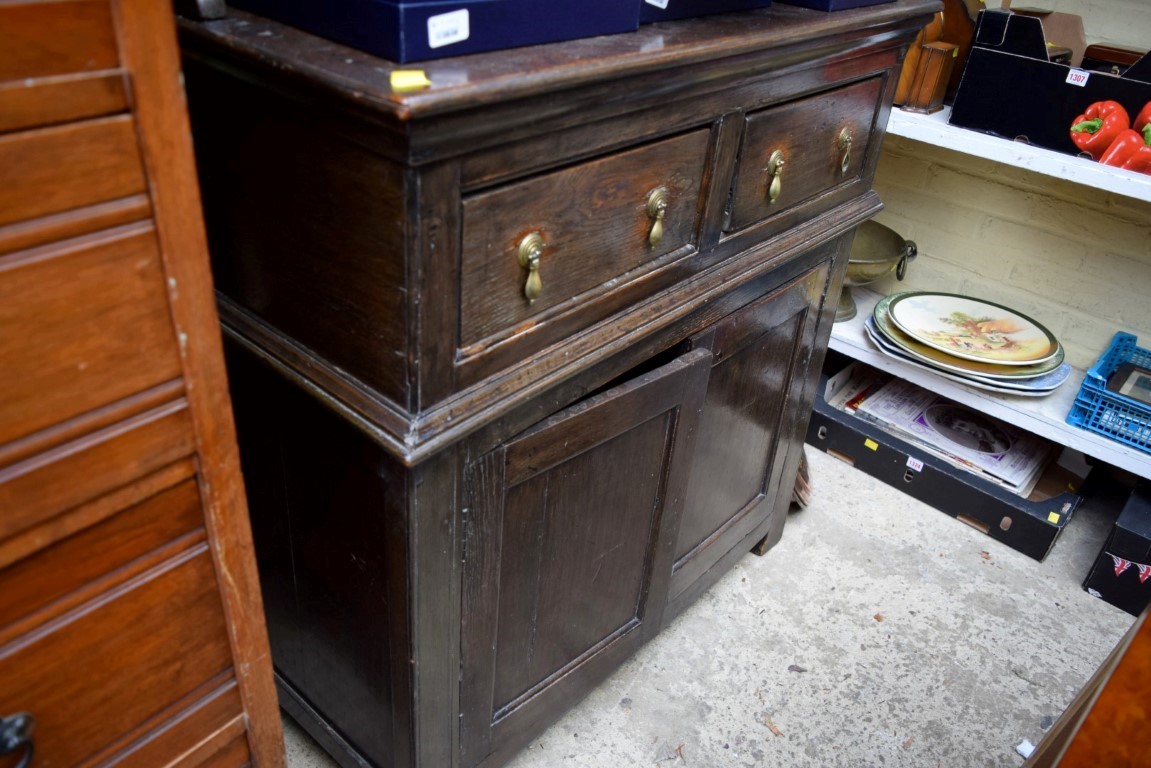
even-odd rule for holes
{"type": "Polygon", "coordinates": [[[1151,485],[1131,492],[1083,588],[1133,616],[1151,603],[1151,485]]]}

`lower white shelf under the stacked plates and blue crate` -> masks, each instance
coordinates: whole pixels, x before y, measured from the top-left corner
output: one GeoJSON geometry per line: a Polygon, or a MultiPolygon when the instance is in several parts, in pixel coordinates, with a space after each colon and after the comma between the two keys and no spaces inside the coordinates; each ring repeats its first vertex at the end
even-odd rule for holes
{"type": "Polygon", "coordinates": [[[1151,479],[1151,455],[1093,432],[1080,429],[1065,420],[1083,382],[1083,371],[1073,371],[1067,381],[1046,397],[1013,397],[975,389],[890,358],[876,349],[863,329],[863,319],[871,314],[881,296],[861,288],[853,288],[852,295],[855,297],[859,313],[853,320],[834,324],[831,329],[831,349],[1060,446],[1074,448],[1141,478],[1151,479]]]}

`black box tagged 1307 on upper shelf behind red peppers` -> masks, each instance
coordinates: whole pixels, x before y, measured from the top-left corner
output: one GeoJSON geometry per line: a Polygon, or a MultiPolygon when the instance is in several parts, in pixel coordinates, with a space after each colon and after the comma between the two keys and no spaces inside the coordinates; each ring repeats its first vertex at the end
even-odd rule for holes
{"type": "Polygon", "coordinates": [[[1078,154],[1072,124],[1106,100],[1122,104],[1134,120],[1151,101],[1151,55],[1122,76],[1054,63],[1039,17],[982,10],[951,124],[1078,154]]]}

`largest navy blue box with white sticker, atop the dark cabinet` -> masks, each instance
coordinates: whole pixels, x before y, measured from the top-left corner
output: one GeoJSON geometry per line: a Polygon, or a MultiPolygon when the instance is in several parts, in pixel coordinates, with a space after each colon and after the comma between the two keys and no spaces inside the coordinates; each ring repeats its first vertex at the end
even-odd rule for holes
{"type": "Polygon", "coordinates": [[[640,0],[229,0],[398,63],[639,28],[640,0]]]}

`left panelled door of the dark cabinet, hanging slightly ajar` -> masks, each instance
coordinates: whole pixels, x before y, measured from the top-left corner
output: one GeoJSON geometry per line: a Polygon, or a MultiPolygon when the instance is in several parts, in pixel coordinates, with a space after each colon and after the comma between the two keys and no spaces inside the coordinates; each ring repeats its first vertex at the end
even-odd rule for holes
{"type": "Polygon", "coordinates": [[[519,748],[658,631],[710,366],[687,352],[467,466],[464,765],[519,748]]]}

